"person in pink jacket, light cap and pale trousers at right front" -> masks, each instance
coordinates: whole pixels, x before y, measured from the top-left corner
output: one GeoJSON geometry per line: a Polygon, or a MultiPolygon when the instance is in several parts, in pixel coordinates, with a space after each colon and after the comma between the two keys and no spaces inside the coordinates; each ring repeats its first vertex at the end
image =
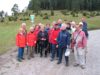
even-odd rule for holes
{"type": "Polygon", "coordinates": [[[76,61],[74,66],[80,66],[84,69],[87,38],[85,33],[82,31],[82,26],[83,24],[76,25],[76,31],[72,34],[72,41],[74,44],[74,56],[76,61]]]}

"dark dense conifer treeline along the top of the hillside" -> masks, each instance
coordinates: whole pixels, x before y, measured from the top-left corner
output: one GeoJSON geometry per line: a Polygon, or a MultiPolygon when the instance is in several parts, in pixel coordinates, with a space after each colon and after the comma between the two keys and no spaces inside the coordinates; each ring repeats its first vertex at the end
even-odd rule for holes
{"type": "Polygon", "coordinates": [[[100,0],[31,0],[30,10],[100,10],[100,0]]]}

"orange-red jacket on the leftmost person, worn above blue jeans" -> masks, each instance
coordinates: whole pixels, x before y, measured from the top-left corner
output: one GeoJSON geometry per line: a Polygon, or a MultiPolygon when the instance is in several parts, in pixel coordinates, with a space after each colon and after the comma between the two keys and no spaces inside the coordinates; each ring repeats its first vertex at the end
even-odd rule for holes
{"type": "Polygon", "coordinates": [[[16,45],[18,47],[25,47],[26,46],[26,37],[24,34],[17,34],[16,35],[16,45]]]}

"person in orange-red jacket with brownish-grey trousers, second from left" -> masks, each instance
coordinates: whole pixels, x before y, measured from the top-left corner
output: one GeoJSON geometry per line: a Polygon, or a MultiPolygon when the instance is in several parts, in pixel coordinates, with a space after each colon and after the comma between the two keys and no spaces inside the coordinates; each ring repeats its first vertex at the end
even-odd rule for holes
{"type": "Polygon", "coordinates": [[[34,28],[30,27],[30,32],[27,34],[27,45],[28,45],[28,59],[34,57],[34,48],[36,46],[36,35],[34,34],[34,28]]]}

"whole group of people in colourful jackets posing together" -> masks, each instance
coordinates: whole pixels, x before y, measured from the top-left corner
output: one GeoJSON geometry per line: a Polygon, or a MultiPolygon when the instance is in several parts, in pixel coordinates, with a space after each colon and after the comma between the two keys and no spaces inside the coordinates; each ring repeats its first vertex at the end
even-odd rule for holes
{"type": "Polygon", "coordinates": [[[75,21],[62,22],[62,19],[54,21],[51,25],[38,23],[26,30],[26,23],[22,23],[16,35],[16,45],[18,46],[18,61],[24,60],[24,48],[27,48],[27,58],[50,55],[50,61],[58,60],[57,64],[62,63],[65,57],[66,66],[69,65],[70,52],[74,52],[75,64],[85,68],[85,54],[87,52],[87,23],[82,18],[80,23],[75,21]]]}

